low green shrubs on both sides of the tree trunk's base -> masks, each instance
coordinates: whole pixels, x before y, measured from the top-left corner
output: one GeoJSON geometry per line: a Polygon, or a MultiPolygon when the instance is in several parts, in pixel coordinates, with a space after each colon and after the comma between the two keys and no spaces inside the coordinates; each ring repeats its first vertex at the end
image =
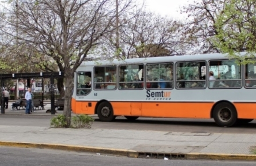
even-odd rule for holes
{"type": "MultiPolygon", "coordinates": [[[[88,115],[76,115],[71,118],[72,128],[91,128],[91,124],[94,122],[94,119],[88,115]]],[[[51,127],[61,128],[67,125],[66,117],[62,115],[58,115],[51,119],[51,127]]]]}

